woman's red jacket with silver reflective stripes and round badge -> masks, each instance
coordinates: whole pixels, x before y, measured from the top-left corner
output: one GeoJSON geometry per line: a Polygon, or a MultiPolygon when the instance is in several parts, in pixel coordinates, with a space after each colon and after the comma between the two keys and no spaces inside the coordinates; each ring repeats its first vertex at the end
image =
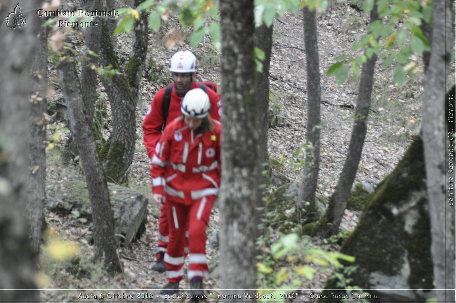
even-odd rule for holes
{"type": "Polygon", "coordinates": [[[215,127],[204,134],[190,130],[181,118],[166,125],[152,157],[153,193],[185,205],[218,194],[222,125],[210,119],[215,127]]]}

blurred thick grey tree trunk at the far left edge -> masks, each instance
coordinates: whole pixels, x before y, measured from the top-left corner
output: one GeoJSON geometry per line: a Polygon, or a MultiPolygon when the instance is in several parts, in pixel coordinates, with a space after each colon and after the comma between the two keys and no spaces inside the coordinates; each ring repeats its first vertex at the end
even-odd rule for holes
{"type": "MultiPolygon", "coordinates": [[[[9,16],[16,3],[3,5],[9,16]]],[[[0,33],[0,289],[2,301],[37,302],[36,254],[26,223],[30,69],[38,22],[31,2],[21,3],[26,25],[0,33]],[[10,289],[10,290],[5,290],[10,289]],[[20,291],[15,291],[19,289],[20,291]],[[25,291],[24,289],[31,289],[25,291]]],[[[17,16],[17,14],[16,14],[17,16]]],[[[14,16],[10,16],[12,23],[14,16]]],[[[13,24],[11,24],[13,26],[13,24]]],[[[41,167],[41,169],[44,169],[41,167]]]]}

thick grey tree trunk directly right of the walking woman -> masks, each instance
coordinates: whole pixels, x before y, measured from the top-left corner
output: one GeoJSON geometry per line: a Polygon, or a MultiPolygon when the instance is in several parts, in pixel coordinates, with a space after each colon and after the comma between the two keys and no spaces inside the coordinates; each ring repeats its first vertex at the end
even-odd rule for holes
{"type": "Polygon", "coordinates": [[[256,289],[255,205],[259,138],[255,99],[254,1],[222,0],[221,266],[225,289],[256,289]]]}

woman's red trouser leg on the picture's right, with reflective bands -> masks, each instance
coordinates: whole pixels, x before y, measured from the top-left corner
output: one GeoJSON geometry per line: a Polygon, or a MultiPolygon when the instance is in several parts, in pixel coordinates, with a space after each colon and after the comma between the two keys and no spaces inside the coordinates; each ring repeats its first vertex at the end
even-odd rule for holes
{"type": "Polygon", "coordinates": [[[190,207],[188,222],[190,250],[188,253],[189,279],[203,277],[207,279],[209,270],[206,263],[206,226],[209,222],[212,205],[216,197],[211,195],[198,199],[190,207]]]}

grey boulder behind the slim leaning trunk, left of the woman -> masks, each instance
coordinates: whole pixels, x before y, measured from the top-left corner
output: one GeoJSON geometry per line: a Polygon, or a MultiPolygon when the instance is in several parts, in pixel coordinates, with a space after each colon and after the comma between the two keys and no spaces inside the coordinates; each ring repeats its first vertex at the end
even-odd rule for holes
{"type": "MultiPolygon", "coordinates": [[[[108,183],[111,209],[114,217],[114,234],[124,246],[129,246],[145,230],[148,199],[131,188],[108,183]]],[[[52,212],[77,213],[92,221],[92,209],[85,178],[67,176],[47,187],[46,207],[52,212]],[[74,212],[77,211],[77,212],[74,212]]]]}

